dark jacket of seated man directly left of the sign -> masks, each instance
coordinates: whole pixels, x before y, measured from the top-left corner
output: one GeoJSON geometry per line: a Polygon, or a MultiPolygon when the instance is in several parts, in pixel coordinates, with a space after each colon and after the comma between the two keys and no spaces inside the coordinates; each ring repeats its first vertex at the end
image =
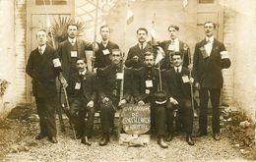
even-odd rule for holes
{"type": "MultiPolygon", "coordinates": [[[[116,67],[113,64],[97,70],[97,83],[98,83],[98,95],[100,99],[108,97],[111,100],[119,100],[121,80],[116,79],[116,74],[121,73],[120,67],[116,67]],[[113,94],[113,90],[116,90],[117,95],[113,94]]],[[[123,98],[130,101],[132,84],[131,84],[132,70],[124,69],[124,88],[123,98]]]]}

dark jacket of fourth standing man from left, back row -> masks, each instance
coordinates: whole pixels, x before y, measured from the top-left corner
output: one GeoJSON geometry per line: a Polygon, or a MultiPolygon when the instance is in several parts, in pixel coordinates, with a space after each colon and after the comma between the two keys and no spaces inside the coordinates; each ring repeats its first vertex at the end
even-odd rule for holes
{"type": "Polygon", "coordinates": [[[147,51],[153,51],[152,46],[147,43],[145,48],[143,50],[140,49],[139,44],[136,44],[135,46],[131,47],[128,51],[127,59],[125,60],[125,66],[128,68],[141,68],[144,66],[144,56],[147,51]],[[136,62],[133,60],[134,56],[139,57],[139,61],[136,62]]]}

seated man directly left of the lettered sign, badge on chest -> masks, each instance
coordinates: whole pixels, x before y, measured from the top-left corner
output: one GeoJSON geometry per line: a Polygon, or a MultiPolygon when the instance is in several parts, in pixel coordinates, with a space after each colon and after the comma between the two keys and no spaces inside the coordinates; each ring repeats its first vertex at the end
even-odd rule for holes
{"type": "Polygon", "coordinates": [[[114,113],[122,104],[130,101],[131,70],[124,69],[121,65],[122,54],[119,49],[112,49],[110,55],[111,64],[97,70],[98,95],[100,103],[100,124],[102,138],[99,145],[109,142],[109,132],[112,127],[114,113]],[[123,82],[124,95],[121,98],[121,84],[123,82]],[[121,100],[120,100],[121,99],[121,100]]]}

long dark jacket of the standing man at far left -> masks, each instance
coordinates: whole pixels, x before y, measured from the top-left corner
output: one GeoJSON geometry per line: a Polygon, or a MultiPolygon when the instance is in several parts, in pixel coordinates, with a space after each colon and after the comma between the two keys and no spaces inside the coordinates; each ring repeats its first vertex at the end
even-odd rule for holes
{"type": "Polygon", "coordinates": [[[26,66],[26,73],[32,78],[32,94],[35,97],[56,95],[55,79],[58,76],[58,70],[52,63],[55,58],[55,50],[49,45],[46,45],[42,55],[38,48],[32,51],[26,66]]]}

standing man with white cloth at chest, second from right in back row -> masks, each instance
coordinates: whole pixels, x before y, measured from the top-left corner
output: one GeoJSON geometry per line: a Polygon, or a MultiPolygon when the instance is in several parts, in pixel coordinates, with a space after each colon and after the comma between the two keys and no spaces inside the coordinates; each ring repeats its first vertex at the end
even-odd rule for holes
{"type": "Polygon", "coordinates": [[[179,27],[170,25],[168,27],[170,39],[160,42],[160,47],[165,53],[165,57],[160,61],[160,69],[168,70],[173,67],[170,57],[174,52],[181,52],[183,67],[188,68],[190,50],[187,43],[178,39],[178,31],[179,27]]]}

